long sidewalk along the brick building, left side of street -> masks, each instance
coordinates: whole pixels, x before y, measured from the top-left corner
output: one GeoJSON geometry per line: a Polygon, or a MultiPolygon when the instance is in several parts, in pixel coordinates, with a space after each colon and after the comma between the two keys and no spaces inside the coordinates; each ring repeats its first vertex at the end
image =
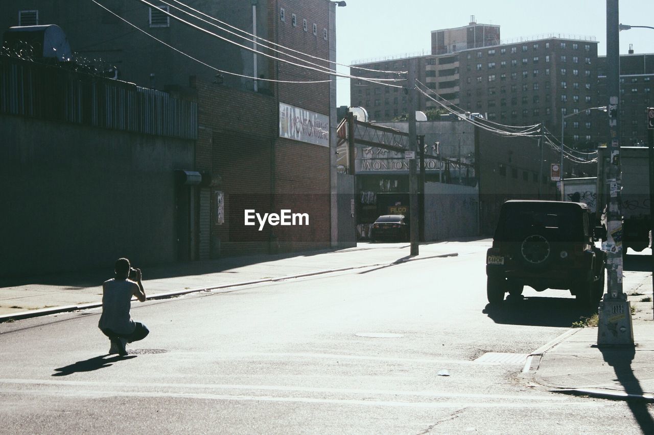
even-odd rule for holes
{"type": "MultiPolygon", "coordinates": [[[[194,291],[269,282],[369,265],[390,265],[457,255],[449,242],[421,244],[420,255],[416,257],[409,257],[409,250],[408,243],[360,243],[356,248],[337,251],[307,251],[175,263],[144,268],[143,286],[148,299],[164,298],[194,291]]],[[[99,306],[102,283],[112,278],[112,266],[108,265],[103,270],[2,280],[0,322],[99,306]]]]}

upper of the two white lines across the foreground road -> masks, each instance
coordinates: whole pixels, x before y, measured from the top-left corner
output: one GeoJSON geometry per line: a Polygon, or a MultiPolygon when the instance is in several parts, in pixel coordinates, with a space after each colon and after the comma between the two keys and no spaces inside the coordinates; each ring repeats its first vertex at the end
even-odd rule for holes
{"type": "Polygon", "coordinates": [[[363,395],[395,395],[395,396],[428,396],[438,398],[481,398],[481,399],[508,399],[508,400],[547,400],[549,402],[563,402],[569,400],[565,396],[527,396],[527,395],[487,395],[473,393],[443,393],[439,391],[398,391],[377,389],[349,389],[328,387],[298,387],[292,385],[236,385],[236,384],[210,384],[210,383],[132,383],[132,382],[95,382],[95,381],[67,381],[52,379],[0,379],[0,383],[20,385],[60,385],[67,387],[150,387],[173,389],[230,389],[230,390],[261,390],[261,391],[301,391],[305,393],[343,393],[363,395]]]}

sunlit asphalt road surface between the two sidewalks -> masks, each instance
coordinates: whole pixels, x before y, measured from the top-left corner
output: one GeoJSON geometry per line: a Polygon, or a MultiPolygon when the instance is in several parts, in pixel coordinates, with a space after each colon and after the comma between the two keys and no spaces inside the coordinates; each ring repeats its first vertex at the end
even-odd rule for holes
{"type": "Polygon", "coordinates": [[[487,246],[135,304],[151,333],[126,358],[99,310],[2,324],[0,432],[640,433],[625,402],[522,373],[587,313],[530,289],[490,309],[487,246]]]}

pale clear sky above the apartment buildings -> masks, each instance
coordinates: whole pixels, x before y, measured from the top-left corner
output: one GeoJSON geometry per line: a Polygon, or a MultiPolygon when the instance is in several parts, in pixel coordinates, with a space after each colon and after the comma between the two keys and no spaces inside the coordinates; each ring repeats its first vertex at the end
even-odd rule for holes
{"type": "MultiPolygon", "coordinates": [[[[352,65],[383,57],[431,52],[431,31],[479,24],[500,25],[502,42],[555,33],[594,37],[598,55],[606,55],[605,0],[346,0],[336,7],[336,61],[352,65]]],[[[619,22],[654,27],[654,0],[619,0],[619,22]]],[[[621,31],[620,54],[654,53],[654,29],[621,31]]],[[[349,74],[349,68],[339,67],[349,74]]],[[[337,80],[338,106],[350,105],[350,82],[337,80]]]]}

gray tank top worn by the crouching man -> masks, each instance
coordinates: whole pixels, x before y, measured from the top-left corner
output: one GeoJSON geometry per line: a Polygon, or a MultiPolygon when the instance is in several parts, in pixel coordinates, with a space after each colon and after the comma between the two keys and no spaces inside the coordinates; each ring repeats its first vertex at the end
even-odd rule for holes
{"type": "Polygon", "coordinates": [[[102,284],[102,315],[99,329],[111,329],[117,334],[131,334],[136,325],[129,317],[129,307],[135,283],[129,280],[108,280],[102,284]]]}

